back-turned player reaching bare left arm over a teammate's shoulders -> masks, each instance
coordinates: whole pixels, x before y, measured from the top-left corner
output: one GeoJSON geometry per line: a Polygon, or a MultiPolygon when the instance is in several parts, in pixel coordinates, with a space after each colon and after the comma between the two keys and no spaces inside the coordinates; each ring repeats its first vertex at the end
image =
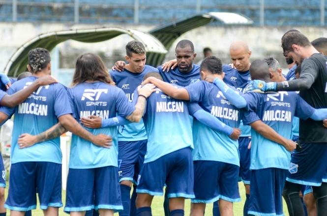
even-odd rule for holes
{"type": "MultiPolygon", "coordinates": [[[[222,76],[221,61],[214,56],[204,59],[201,72],[222,76]]],[[[227,125],[239,126],[239,110],[225,100],[213,84],[200,81],[185,88],[175,89],[157,79],[149,78],[144,83],[148,82],[156,83],[159,89],[174,98],[199,102],[204,110],[211,111],[211,115],[227,125]],[[227,111],[224,111],[226,115],[222,114],[222,110],[227,111]]],[[[224,134],[214,132],[197,120],[193,123],[193,138],[196,197],[192,199],[191,215],[203,215],[206,203],[218,199],[222,214],[233,213],[233,202],[240,200],[238,143],[224,134]],[[210,173],[210,177],[205,173],[210,173]]]]}

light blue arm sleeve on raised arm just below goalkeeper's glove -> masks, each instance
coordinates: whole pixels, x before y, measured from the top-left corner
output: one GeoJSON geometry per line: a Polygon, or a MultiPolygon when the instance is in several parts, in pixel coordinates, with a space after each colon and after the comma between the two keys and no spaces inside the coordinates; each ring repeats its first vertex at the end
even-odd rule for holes
{"type": "Polygon", "coordinates": [[[247,103],[244,97],[240,96],[235,90],[230,88],[226,83],[224,83],[221,79],[215,78],[213,80],[213,84],[215,84],[220,91],[224,94],[224,96],[237,108],[246,107],[247,103]]]}

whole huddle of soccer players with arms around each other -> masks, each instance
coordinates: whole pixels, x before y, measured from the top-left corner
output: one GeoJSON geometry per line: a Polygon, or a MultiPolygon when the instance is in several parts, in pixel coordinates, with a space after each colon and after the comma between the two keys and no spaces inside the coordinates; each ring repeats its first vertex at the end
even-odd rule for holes
{"type": "Polygon", "coordinates": [[[297,79],[287,81],[272,57],[250,64],[243,41],[230,46],[232,65],[215,56],[195,65],[193,43],[181,40],[176,60],[157,68],[146,65],[144,45],[131,41],[128,64],[119,61],[109,73],[99,56],[79,56],[68,89],[49,76],[48,50],[30,50],[31,76],[1,92],[0,121],[15,115],[4,207],[24,216],[36,208],[37,192],[44,214],[58,215],[59,136],[69,130],[64,211],[72,216],[150,216],[153,196],[165,186],[166,216],[183,216],[185,198],[191,198],[191,216],[204,215],[212,202],[214,216],[231,216],[239,179],[244,216],[282,216],[282,195],[290,216],[304,216],[302,185],[313,192],[310,216],[323,216],[327,57],[297,30],[284,34],[282,48],[301,67],[297,79]]]}

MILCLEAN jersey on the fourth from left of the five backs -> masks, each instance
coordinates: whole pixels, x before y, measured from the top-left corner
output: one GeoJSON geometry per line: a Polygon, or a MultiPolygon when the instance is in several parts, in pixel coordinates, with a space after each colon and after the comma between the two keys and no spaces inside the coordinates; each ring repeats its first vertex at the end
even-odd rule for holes
{"type": "MultiPolygon", "coordinates": [[[[241,110],[233,106],[213,83],[200,81],[185,87],[191,102],[231,127],[239,127],[241,110]]],[[[236,90],[237,91],[237,90],[236,90]]],[[[220,161],[239,166],[238,141],[193,121],[193,160],[220,161]]]]}

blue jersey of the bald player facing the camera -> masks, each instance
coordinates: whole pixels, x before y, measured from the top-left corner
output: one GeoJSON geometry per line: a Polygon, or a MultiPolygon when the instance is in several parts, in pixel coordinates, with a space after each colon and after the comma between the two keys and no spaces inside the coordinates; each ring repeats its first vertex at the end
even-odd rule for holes
{"type": "MultiPolygon", "coordinates": [[[[239,91],[244,92],[244,89],[249,80],[251,80],[250,72],[239,72],[233,69],[229,65],[223,66],[223,72],[225,72],[224,82],[230,86],[237,88],[239,91]]],[[[239,129],[241,130],[241,137],[251,136],[251,127],[248,125],[243,125],[241,122],[239,129]]]]}

